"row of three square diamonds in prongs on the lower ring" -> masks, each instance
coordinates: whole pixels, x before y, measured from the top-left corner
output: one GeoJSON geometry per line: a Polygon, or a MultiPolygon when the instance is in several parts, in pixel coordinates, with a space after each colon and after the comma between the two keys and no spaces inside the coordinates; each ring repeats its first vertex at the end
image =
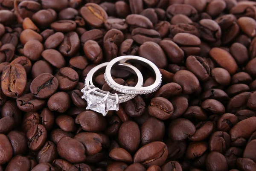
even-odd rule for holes
{"type": "Polygon", "coordinates": [[[88,93],[86,90],[81,90],[84,93],[82,99],[87,101],[87,110],[93,110],[98,113],[102,113],[106,116],[109,110],[119,110],[119,104],[115,100],[106,99],[102,101],[104,97],[95,95],[94,93],[88,93]]]}

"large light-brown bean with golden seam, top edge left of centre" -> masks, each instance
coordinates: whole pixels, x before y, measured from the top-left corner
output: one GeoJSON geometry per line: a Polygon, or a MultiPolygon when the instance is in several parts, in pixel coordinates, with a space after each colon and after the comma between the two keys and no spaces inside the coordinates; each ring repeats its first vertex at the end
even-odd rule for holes
{"type": "Polygon", "coordinates": [[[81,8],[81,15],[91,26],[100,28],[108,18],[108,14],[96,3],[87,3],[81,8]]]}

